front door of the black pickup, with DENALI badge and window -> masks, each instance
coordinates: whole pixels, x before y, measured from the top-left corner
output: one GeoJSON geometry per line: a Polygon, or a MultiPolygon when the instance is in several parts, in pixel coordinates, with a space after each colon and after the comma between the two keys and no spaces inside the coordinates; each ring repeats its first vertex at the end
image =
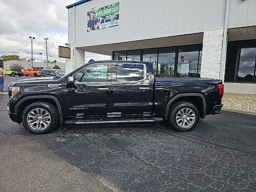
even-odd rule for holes
{"type": "Polygon", "coordinates": [[[62,84],[67,117],[106,117],[111,112],[111,67],[112,63],[86,66],[74,75],[73,84],[62,84]]]}

